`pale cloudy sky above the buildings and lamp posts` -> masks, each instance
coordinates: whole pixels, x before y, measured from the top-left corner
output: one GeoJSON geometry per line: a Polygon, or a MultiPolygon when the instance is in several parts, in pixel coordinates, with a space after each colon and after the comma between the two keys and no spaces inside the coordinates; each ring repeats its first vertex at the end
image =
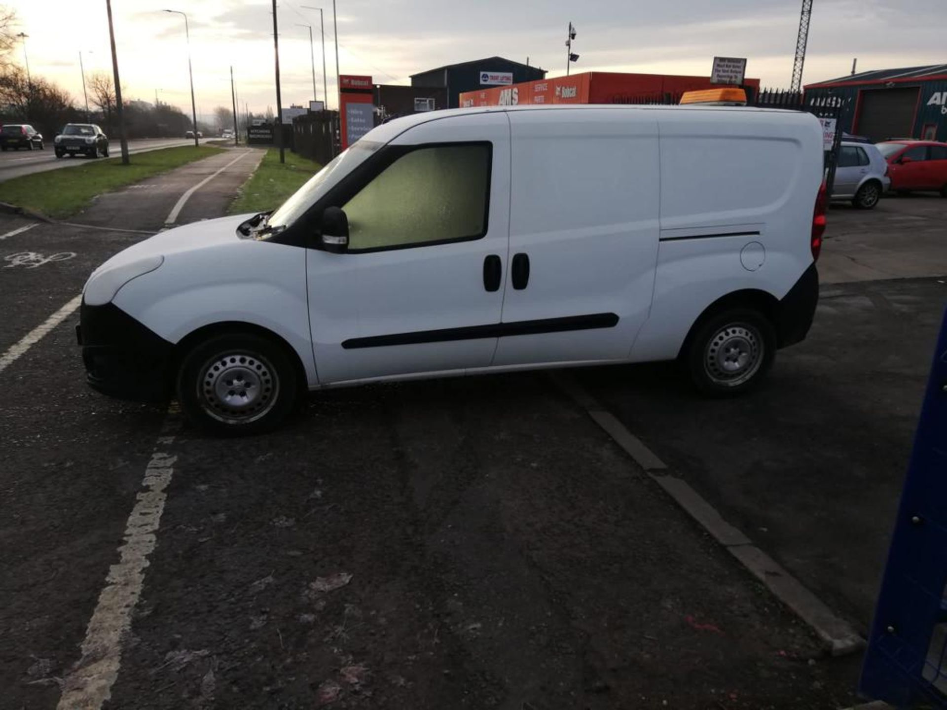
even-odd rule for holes
{"type": "MultiPolygon", "coordinates": [[[[3,0],[0,0],[2,3],[3,0]]],[[[326,3],[327,0],[321,0],[326,3]]],[[[277,3],[283,105],[323,98],[320,0],[277,3]]],[[[708,76],[715,55],[746,57],[747,77],[784,88],[792,74],[801,0],[338,0],[339,68],[376,83],[410,83],[443,64],[499,55],[565,73],[565,34],[577,28],[572,72],[708,76]]],[[[25,32],[30,70],[82,104],[86,77],[112,71],[105,0],[6,0],[25,32]]],[[[271,0],[113,0],[126,100],[157,97],[188,111],[188,13],[198,118],[230,106],[230,75],[242,111],[276,107],[271,0]],[[169,2],[171,5],[162,3],[169,2]]],[[[947,0],[814,0],[804,82],[859,71],[947,62],[947,0]]],[[[329,104],[335,106],[332,6],[325,6],[329,104]]],[[[24,62],[24,46],[14,59],[24,62]]]]}

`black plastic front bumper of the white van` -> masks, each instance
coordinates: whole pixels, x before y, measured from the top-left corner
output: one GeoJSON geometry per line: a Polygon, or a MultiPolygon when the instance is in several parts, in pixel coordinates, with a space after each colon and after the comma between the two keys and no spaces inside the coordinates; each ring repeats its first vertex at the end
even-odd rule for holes
{"type": "Polygon", "coordinates": [[[119,399],[170,399],[173,346],[128,313],[83,302],[76,335],[90,387],[119,399]]]}

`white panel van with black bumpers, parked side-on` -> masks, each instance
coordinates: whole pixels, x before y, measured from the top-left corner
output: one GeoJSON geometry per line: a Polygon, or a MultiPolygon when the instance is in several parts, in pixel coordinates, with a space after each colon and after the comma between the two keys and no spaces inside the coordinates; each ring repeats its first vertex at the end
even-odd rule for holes
{"type": "Polygon", "coordinates": [[[679,359],[710,394],[802,340],[825,228],[808,114],[494,107],[405,116],[273,212],[195,222],[83,290],[88,381],[216,433],[306,390],[679,359]]]}

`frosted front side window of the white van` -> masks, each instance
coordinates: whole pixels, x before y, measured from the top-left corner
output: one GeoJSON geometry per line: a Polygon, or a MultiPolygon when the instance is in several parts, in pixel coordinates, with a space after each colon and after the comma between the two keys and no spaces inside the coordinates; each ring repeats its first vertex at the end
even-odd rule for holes
{"type": "Polygon", "coordinates": [[[487,143],[438,145],[402,155],[343,205],[348,251],[483,237],[490,165],[487,143]]]}

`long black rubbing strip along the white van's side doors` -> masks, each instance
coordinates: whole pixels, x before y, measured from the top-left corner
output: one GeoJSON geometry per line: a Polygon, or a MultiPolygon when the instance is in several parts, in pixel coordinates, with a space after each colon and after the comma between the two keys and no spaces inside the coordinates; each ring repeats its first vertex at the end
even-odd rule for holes
{"type": "Polygon", "coordinates": [[[592,313],[591,315],[569,315],[564,318],[497,323],[491,326],[468,326],[466,328],[442,328],[439,330],[417,330],[412,333],[373,335],[367,338],[352,338],[344,341],[342,346],[347,350],[359,347],[413,346],[420,343],[446,343],[454,340],[506,338],[512,335],[538,335],[541,333],[561,333],[568,330],[615,328],[617,324],[618,316],[615,313],[592,313]]]}

